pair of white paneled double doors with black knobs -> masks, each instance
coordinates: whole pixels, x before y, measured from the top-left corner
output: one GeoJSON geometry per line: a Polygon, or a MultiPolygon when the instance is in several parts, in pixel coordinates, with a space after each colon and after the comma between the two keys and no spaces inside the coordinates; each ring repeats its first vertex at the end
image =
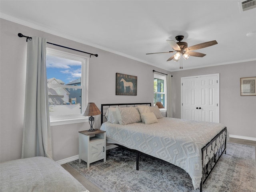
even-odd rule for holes
{"type": "Polygon", "coordinates": [[[219,122],[219,74],[182,78],[181,117],[219,122]]]}

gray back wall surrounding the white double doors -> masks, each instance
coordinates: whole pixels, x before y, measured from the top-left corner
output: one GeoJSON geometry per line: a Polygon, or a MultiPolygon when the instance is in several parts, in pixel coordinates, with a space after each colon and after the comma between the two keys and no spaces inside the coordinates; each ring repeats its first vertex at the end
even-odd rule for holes
{"type": "Polygon", "coordinates": [[[181,116],[182,77],[220,74],[220,123],[229,134],[256,138],[256,96],[240,96],[240,78],[256,76],[256,62],[243,62],[172,72],[173,117],[181,116]]]}

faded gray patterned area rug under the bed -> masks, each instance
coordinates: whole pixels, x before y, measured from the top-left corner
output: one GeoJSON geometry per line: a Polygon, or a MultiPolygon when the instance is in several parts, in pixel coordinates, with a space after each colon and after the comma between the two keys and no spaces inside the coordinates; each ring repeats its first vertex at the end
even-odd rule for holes
{"type": "MultiPolygon", "coordinates": [[[[90,164],[69,162],[72,168],[104,192],[199,192],[183,169],[149,156],[140,156],[136,170],[136,153],[124,148],[107,151],[107,160],[90,164]]],[[[203,192],[256,192],[255,146],[227,143],[203,192]]]]}

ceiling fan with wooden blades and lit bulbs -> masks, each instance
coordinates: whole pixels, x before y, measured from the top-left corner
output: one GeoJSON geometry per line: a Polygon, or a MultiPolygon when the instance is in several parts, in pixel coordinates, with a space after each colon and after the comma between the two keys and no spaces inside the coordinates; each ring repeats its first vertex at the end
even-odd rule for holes
{"type": "MultiPolygon", "coordinates": [[[[176,52],[176,54],[171,56],[167,61],[174,60],[174,61],[177,62],[180,59],[181,56],[183,56],[183,58],[185,60],[187,60],[189,56],[194,56],[194,57],[206,56],[206,54],[193,52],[192,50],[202,49],[202,48],[206,48],[206,47],[218,44],[216,40],[213,40],[213,41],[208,41],[208,42],[204,42],[204,43],[200,43],[200,44],[188,47],[188,43],[182,42],[183,38],[184,38],[183,35],[176,36],[175,39],[178,41],[177,43],[174,40],[166,40],[167,43],[172,47],[172,49],[174,51],[158,52],[158,53],[173,53],[173,52],[176,52]]],[[[158,54],[158,53],[146,53],[146,55],[148,55],[148,54],[158,54]]]]}

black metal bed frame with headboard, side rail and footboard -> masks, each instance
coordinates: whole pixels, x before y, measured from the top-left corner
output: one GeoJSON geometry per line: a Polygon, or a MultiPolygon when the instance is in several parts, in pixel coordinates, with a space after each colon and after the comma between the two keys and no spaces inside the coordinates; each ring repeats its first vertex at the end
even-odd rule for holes
{"type": "MultiPolygon", "coordinates": [[[[123,104],[101,104],[101,124],[103,123],[104,115],[104,106],[138,106],[138,105],[150,105],[151,103],[123,103],[123,104]]],[[[217,165],[220,157],[225,153],[226,154],[226,136],[227,128],[225,127],[221,130],[208,144],[206,144],[202,149],[202,179],[200,184],[200,192],[208,180],[209,176],[212,174],[215,166],[217,165]],[[218,147],[219,146],[219,147],[218,147]],[[210,152],[209,152],[210,151],[210,152]],[[204,164],[206,162],[206,164],[204,164]]],[[[136,152],[136,170],[139,170],[139,156],[140,154],[145,154],[138,150],[130,149],[119,144],[114,144],[129,150],[136,152]]],[[[145,154],[148,155],[148,154],[145,154]]],[[[150,156],[150,155],[148,155],[150,156]]]]}

